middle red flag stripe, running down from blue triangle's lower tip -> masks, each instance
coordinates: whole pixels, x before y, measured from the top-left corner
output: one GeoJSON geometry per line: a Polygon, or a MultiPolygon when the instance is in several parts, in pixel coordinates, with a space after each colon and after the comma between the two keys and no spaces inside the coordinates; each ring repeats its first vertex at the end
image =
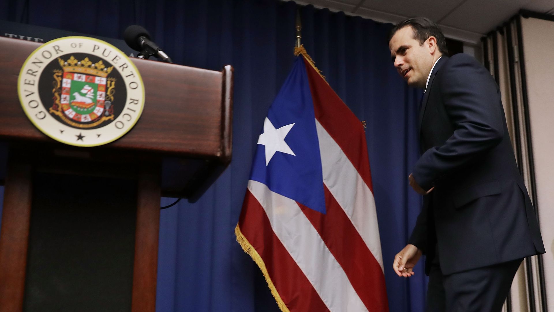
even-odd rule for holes
{"type": "Polygon", "coordinates": [[[326,186],[325,203],[326,214],[298,205],[342,266],[366,308],[370,312],[388,311],[381,265],[326,186]]]}

